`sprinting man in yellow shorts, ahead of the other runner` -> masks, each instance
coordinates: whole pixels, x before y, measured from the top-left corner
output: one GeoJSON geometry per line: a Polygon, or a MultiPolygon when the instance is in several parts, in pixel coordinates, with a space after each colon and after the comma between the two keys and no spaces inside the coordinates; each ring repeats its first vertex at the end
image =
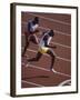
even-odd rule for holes
{"type": "Polygon", "coordinates": [[[39,59],[41,58],[41,56],[43,53],[48,53],[51,57],[50,70],[52,70],[56,57],[54,57],[53,50],[51,48],[56,48],[56,46],[51,47],[51,46],[49,46],[49,43],[50,43],[51,39],[53,38],[53,36],[54,36],[53,30],[49,30],[46,33],[43,33],[43,36],[40,40],[40,43],[39,43],[39,50],[37,52],[36,58],[28,59],[28,62],[39,61],[39,59]]]}

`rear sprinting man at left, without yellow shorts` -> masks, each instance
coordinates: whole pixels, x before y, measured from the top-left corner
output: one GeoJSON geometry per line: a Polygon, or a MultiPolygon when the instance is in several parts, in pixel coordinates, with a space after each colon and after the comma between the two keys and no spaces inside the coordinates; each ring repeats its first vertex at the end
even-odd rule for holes
{"type": "Polygon", "coordinates": [[[24,46],[24,50],[22,52],[22,57],[24,56],[30,41],[38,44],[38,38],[36,36],[36,33],[39,32],[38,28],[39,28],[39,18],[38,17],[36,17],[33,20],[28,21],[27,32],[24,33],[26,34],[26,46],[24,46]]]}

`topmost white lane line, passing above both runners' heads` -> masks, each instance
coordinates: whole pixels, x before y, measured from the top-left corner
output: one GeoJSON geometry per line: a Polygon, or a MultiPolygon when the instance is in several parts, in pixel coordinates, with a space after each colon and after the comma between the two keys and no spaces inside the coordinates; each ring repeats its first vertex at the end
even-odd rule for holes
{"type": "Polygon", "coordinates": [[[34,17],[39,17],[39,18],[46,19],[46,20],[51,21],[51,22],[53,21],[53,22],[57,22],[57,23],[61,23],[61,24],[66,24],[66,26],[71,26],[68,22],[56,20],[56,19],[52,19],[52,18],[47,18],[47,17],[34,14],[34,13],[28,13],[28,14],[31,14],[31,16],[34,16],[34,17]]]}

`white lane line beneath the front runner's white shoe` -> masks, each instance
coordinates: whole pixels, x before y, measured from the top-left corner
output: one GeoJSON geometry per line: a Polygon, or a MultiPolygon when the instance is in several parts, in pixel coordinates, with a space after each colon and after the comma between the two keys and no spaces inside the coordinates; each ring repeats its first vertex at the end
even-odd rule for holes
{"type": "MultiPolygon", "coordinates": [[[[23,62],[22,62],[22,63],[23,63],[23,62]]],[[[24,63],[23,63],[23,64],[24,64],[24,63]]],[[[37,67],[37,66],[31,64],[31,63],[26,64],[26,67],[27,67],[27,68],[28,68],[28,67],[36,68],[36,69],[43,70],[43,71],[50,71],[49,69],[41,68],[41,67],[37,67]]],[[[54,69],[52,69],[51,72],[53,72],[53,73],[56,73],[56,74],[61,74],[61,76],[66,76],[66,77],[71,77],[71,76],[69,76],[69,74],[66,74],[66,73],[56,71],[54,69]]]]}

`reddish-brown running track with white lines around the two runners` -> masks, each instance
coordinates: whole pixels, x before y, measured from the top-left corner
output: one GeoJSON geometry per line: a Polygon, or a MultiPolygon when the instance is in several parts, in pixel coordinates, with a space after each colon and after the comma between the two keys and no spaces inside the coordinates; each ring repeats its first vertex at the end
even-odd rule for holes
{"type": "MultiPolygon", "coordinates": [[[[26,40],[24,31],[29,19],[39,17],[40,31],[54,30],[51,41],[56,54],[53,69],[50,71],[50,57],[43,54],[38,62],[27,62],[27,58],[36,57],[38,46],[30,43],[26,56],[21,59],[21,88],[56,87],[71,84],[71,16],[61,13],[21,13],[21,51],[23,51],[26,40]]],[[[37,34],[38,38],[41,34],[37,34]]]]}

